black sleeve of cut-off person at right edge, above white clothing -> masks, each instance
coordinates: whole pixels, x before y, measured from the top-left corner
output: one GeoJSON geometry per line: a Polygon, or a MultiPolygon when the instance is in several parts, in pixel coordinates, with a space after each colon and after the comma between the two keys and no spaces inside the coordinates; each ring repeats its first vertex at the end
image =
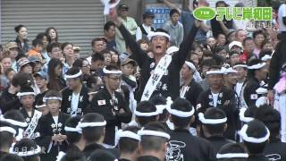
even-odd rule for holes
{"type": "Polygon", "coordinates": [[[268,89],[273,89],[274,85],[280,79],[282,66],[286,65],[286,38],[280,41],[275,48],[269,67],[268,89]]]}

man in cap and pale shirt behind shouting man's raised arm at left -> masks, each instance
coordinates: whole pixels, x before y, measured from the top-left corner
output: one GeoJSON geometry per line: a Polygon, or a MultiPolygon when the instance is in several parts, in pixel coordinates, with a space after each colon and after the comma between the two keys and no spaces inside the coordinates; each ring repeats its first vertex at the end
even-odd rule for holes
{"type": "MultiPolygon", "coordinates": [[[[120,20],[124,27],[130,32],[130,34],[135,37],[135,32],[137,30],[137,23],[136,21],[128,16],[129,6],[127,4],[120,4],[117,8],[117,14],[120,16],[120,20]]],[[[119,30],[115,30],[115,42],[116,42],[116,49],[118,53],[122,54],[126,52],[126,45],[124,38],[119,30]]]]}

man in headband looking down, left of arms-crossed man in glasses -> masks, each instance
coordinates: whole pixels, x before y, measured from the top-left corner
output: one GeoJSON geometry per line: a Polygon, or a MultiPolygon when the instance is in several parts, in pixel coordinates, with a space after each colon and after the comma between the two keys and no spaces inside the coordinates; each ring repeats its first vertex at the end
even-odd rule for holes
{"type": "Polygon", "coordinates": [[[71,116],[81,115],[88,106],[88,89],[81,82],[80,68],[72,67],[65,72],[68,89],[62,92],[61,110],[71,116]]]}

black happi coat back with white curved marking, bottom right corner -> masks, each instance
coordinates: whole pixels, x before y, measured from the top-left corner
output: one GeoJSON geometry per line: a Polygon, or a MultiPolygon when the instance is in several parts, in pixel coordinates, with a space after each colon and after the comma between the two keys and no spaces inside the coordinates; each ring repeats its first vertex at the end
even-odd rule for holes
{"type": "Polygon", "coordinates": [[[286,160],[286,143],[280,139],[270,139],[265,147],[265,157],[269,160],[286,160]]]}

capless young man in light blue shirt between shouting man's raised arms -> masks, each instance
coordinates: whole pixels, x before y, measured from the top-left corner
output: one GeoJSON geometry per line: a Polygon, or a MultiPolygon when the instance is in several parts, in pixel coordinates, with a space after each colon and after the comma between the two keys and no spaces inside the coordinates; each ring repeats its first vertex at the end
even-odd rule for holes
{"type": "Polygon", "coordinates": [[[170,20],[164,23],[163,29],[170,34],[170,43],[172,46],[179,47],[184,37],[184,30],[179,21],[180,12],[177,9],[172,9],[169,13],[170,20]]]}

